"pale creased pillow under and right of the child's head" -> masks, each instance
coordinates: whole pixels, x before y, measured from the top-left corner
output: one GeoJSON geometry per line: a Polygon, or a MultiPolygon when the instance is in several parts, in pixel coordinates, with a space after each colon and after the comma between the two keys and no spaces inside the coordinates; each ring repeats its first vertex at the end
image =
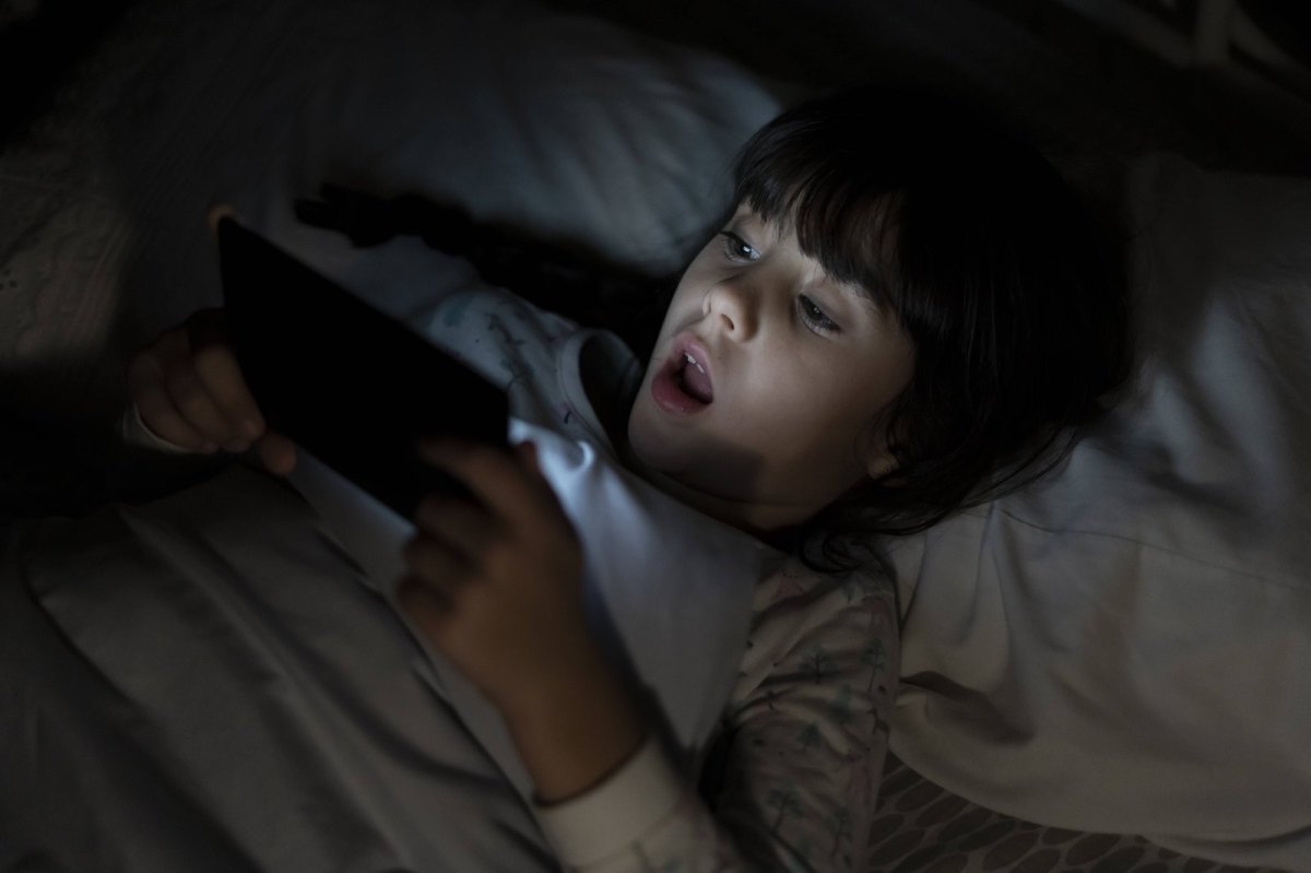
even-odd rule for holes
{"type": "Polygon", "coordinates": [[[898,544],[891,748],[966,798],[1311,857],[1311,181],[1127,177],[1141,368],[1046,482],[898,544]]]}

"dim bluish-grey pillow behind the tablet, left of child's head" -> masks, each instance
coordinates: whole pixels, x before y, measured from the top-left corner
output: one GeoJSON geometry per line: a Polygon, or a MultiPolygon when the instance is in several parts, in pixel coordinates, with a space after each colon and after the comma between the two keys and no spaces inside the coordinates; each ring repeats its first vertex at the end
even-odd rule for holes
{"type": "Polygon", "coordinates": [[[220,299],[215,202],[328,273],[370,277],[362,292],[384,308],[467,275],[420,245],[357,253],[296,225],[292,198],[324,180],[674,269],[776,92],[711,54],[519,0],[136,4],[0,155],[0,232],[16,241],[0,263],[5,400],[111,417],[115,364],[220,299]]]}

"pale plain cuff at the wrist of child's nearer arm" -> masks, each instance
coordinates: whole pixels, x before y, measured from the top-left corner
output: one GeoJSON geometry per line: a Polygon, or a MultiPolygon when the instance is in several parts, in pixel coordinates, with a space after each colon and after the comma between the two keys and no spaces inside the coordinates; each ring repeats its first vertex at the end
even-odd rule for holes
{"type": "Polygon", "coordinates": [[[641,839],[678,806],[684,786],[656,739],[586,794],[532,811],[560,860],[569,866],[602,861],[641,839]]]}

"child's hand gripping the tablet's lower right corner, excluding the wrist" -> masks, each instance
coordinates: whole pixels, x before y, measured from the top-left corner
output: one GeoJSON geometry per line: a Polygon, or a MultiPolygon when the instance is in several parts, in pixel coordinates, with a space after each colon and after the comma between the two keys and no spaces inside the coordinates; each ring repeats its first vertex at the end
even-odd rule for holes
{"type": "Polygon", "coordinates": [[[446,442],[420,455],[481,505],[440,494],[420,503],[401,606],[502,712],[531,708],[595,658],[577,534],[531,443],[513,456],[446,442]]]}

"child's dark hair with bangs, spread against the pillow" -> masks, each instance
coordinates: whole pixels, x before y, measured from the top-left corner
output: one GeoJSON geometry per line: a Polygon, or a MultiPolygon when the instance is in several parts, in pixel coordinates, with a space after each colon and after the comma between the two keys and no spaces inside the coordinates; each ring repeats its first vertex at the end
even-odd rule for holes
{"type": "Polygon", "coordinates": [[[1129,372],[1114,235],[1037,149],[940,96],[863,88],[785,111],[741,153],[738,203],[792,227],[915,346],[871,422],[897,467],[785,537],[815,569],[1050,471],[1129,372]]]}

